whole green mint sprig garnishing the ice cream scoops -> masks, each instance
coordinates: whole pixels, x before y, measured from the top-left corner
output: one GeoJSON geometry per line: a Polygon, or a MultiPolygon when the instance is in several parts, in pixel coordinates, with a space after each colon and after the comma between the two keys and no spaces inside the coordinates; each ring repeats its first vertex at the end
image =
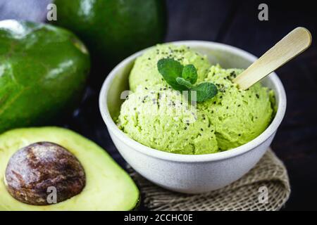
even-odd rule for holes
{"type": "Polygon", "coordinates": [[[211,82],[197,82],[197,70],[194,65],[183,66],[173,58],[162,58],[157,63],[159,73],[173,89],[177,91],[196,91],[197,102],[204,102],[218,93],[217,86],[211,82]]]}

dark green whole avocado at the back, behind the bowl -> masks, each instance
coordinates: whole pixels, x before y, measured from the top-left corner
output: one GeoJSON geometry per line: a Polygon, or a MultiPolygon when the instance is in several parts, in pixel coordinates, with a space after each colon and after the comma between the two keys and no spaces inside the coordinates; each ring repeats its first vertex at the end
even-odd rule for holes
{"type": "MultiPolygon", "coordinates": [[[[163,0],[55,0],[55,23],[87,44],[93,62],[108,68],[132,53],[163,41],[163,0]]],[[[94,66],[94,65],[93,65],[94,66]]]]}

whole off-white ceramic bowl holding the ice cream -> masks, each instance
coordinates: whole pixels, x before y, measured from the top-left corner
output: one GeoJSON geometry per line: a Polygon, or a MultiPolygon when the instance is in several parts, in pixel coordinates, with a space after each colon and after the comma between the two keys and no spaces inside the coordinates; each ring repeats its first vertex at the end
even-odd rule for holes
{"type": "MultiPolygon", "coordinates": [[[[225,44],[209,41],[177,41],[173,44],[190,46],[208,56],[212,64],[219,63],[223,68],[247,68],[256,60],[250,53],[225,44]]],[[[266,153],[285,115],[285,90],[278,76],[272,73],[262,81],[264,86],[275,91],[278,112],[270,126],[256,139],[221,153],[166,153],[130,139],[113,122],[113,117],[118,116],[122,103],[120,94],[129,89],[128,75],[134,60],[146,50],[135,53],[117,65],[106,78],[99,96],[101,115],[120,154],[146,179],[172,191],[203,193],[240,179],[266,153]]]]}

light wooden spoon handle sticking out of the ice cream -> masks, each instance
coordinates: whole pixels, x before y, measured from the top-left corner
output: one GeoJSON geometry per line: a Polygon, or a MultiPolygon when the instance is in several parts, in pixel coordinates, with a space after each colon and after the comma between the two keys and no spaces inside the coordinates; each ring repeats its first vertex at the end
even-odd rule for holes
{"type": "Polygon", "coordinates": [[[264,53],[261,58],[252,63],[247,70],[233,79],[233,82],[238,84],[240,89],[248,89],[305,51],[310,45],[311,32],[304,27],[297,27],[264,53]]]}

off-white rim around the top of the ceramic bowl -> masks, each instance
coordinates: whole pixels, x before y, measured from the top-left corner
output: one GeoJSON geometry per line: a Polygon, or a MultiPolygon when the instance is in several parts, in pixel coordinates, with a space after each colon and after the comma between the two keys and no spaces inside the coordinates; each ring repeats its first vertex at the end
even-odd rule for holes
{"type": "MultiPolygon", "coordinates": [[[[246,58],[247,60],[254,61],[257,59],[256,56],[252,55],[251,53],[247,51],[238,49],[237,47],[234,47],[234,46],[221,44],[221,43],[217,43],[213,41],[172,41],[172,42],[168,42],[168,44],[185,45],[189,47],[200,46],[200,47],[204,47],[208,49],[218,49],[218,50],[234,53],[235,55],[241,56],[242,58],[246,58]]],[[[280,126],[280,123],[282,122],[282,119],[285,115],[286,94],[285,94],[284,86],[282,85],[282,82],[278,78],[278,75],[276,75],[275,72],[272,72],[271,75],[268,75],[268,77],[276,86],[275,95],[278,96],[279,98],[278,110],[275,114],[273,121],[266,128],[266,130],[263,131],[255,139],[249,141],[248,143],[245,143],[242,146],[239,146],[237,148],[232,148],[230,150],[225,150],[220,153],[209,153],[209,154],[203,154],[203,155],[182,155],[182,154],[176,154],[176,153],[168,153],[162,150],[157,150],[155,148],[150,148],[148,146],[144,146],[142,143],[135,141],[134,139],[131,139],[127,134],[125,134],[123,131],[121,131],[117,127],[116,123],[111,118],[111,115],[108,110],[108,105],[107,105],[108,91],[110,89],[110,86],[113,82],[114,77],[116,77],[118,70],[122,69],[123,67],[128,65],[132,60],[135,60],[135,58],[142,55],[144,51],[147,51],[148,49],[151,49],[153,47],[154,46],[151,46],[142,51],[138,51],[137,53],[132,54],[132,56],[129,56],[128,58],[125,58],[125,60],[121,61],[115,68],[113,68],[113,70],[111,70],[111,72],[106,77],[104,84],[101,87],[101,91],[99,94],[99,110],[100,110],[101,116],[106,124],[106,127],[108,128],[109,133],[113,133],[113,135],[115,135],[116,138],[118,138],[120,141],[123,141],[123,143],[127,144],[134,150],[137,150],[139,153],[143,153],[152,158],[159,158],[161,160],[168,160],[168,161],[174,161],[174,162],[211,162],[211,161],[225,160],[228,158],[233,158],[235,156],[247,153],[249,150],[252,150],[256,148],[257,146],[260,146],[261,143],[265,142],[273,134],[275,134],[275,131],[280,126]]],[[[111,139],[113,139],[112,136],[111,136],[111,139]]]]}

